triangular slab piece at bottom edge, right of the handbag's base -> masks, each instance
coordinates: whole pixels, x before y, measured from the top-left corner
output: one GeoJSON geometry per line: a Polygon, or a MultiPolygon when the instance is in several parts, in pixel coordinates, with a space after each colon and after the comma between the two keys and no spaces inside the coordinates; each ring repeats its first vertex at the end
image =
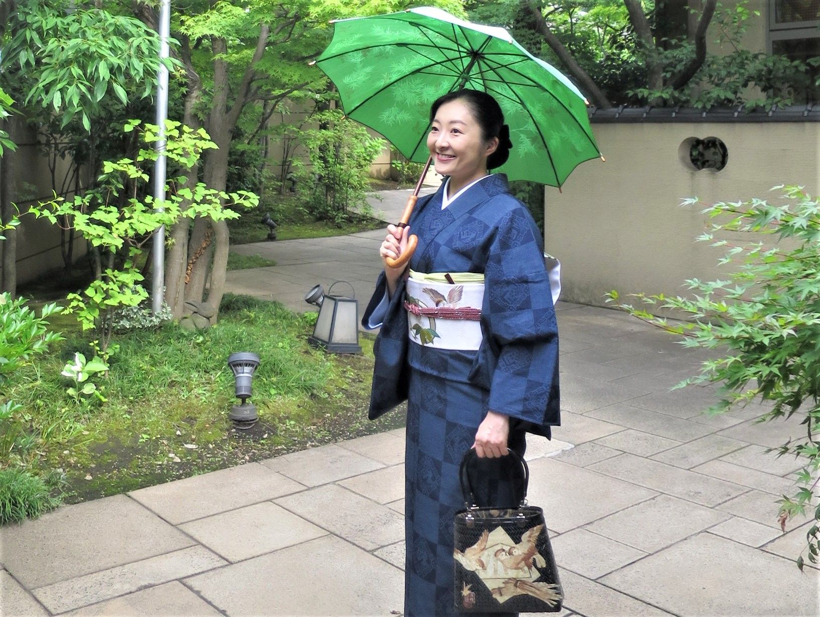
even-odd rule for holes
{"type": "Polygon", "coordinates": [[[567,569],[558,568],[564,596],[564,606],[587,617],[661,617],[669,615],[657,606],[650,606],[613,588],[585,578],[567,569]]]}

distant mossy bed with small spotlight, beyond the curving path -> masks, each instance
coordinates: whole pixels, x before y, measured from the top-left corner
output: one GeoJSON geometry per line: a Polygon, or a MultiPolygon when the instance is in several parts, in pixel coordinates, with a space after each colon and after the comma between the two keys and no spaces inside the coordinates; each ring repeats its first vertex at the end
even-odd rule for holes
{"type": "Polygon", "coordinates": [[[314,220],[303,207],[300,199],[291,194],[266,197],[266,204],[242,211],[239,219],[229,220],[231,244],[249,244],[267,241],[267,228],[262,225],[262,216],[270,212],[271,218],[279,225],[276,228],[278,240],[300,238],[329,238],[358,234],[370,229],[381,229],[384,224],[364,215],[350,215],[348,220],[335,225],[329,220],[314,220]]]}

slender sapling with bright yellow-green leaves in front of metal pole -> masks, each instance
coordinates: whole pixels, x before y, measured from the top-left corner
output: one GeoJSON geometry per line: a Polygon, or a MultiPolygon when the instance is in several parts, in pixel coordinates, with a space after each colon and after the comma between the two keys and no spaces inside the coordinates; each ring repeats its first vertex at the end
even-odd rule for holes
{"type": "MultiPolygon", "coordinates": [[[[225,193],[206,184],[181,186],[178,179],[166,185],[167,197],[162,204],[154,202],[146,194],[149,175],[146,168],[157,160],[153,144],[157,142],[155,125],[140,125],[130,120],[125,131],[138,129],[144,142],[137,157],[132,161],[106,161],[98,186],[73,200],[57,198],[52,202],[32,206],[30,213],[52,223],[69,218],[74,229],[96,247],[105,247],[112,254],[124,256],[119,268],[107,268],[103,276],[95,279],[83,293],[71,293],[66,312],[73,312],[84,330],[92,330],[94,352],[103,361],[110,355],[116,322],[116,311],[138,306],[148,293],[142,286],[144,275],[138,268],[138,257],[143,247],[153,238],[161,225],[171,227],[179,220],[187,223],[200,217],[223,221],[239,215],[229,207],[255,206],[258,202],[253,193],[241,191],[225,193]],[[116,206],[114,197],[125,195],[125,205],[116,206]],[[157,206],[162,206],[158,211],[157,206]]],[[[166,122],[165,155],[172,164],[189,170],[197,166],[202,152],[216,148],[204,129],[190,129],[179,122],[166,122]]],[[[182,178],[185,180],[185,178],[182,178]]]]}

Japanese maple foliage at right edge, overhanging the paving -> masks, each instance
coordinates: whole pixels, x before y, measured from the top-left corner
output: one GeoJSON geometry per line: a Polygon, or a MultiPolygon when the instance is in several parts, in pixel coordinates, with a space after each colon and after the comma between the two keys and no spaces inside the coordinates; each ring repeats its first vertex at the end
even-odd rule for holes
{"type": "MultiPolygon", "coordinates": [[[[818,563],[818,471],[820,471],[820,202],[796,186],[776,187],[781,203],[763,199],[718,202],[705,214],[714,221],[699,240],[726,247],[720,263],[737,269],[726,279],[687,281],[690,297],[636,294],[644,306],[610,301],[650,324],[682,335],[685,347],[717,352],[701,373],[678,385],[720,383],[722,400],[711,413],[730,411],[755,399],[771,406],[758,422],[796,415],[802,437],[772,448],[803,465],[796,492],[784,496],[781,523],[813,510],[806,534],[809,561],[818,563]],[[746,236],[748,241],[728,238],[746,236]],[[650,311],[674,311],[686,321],[672,323],[650,311]]],[[[697,199],[684,203],[692,206],[697,199]]],[[[803,569],[803,556],[797,557],[803,569]]]]}

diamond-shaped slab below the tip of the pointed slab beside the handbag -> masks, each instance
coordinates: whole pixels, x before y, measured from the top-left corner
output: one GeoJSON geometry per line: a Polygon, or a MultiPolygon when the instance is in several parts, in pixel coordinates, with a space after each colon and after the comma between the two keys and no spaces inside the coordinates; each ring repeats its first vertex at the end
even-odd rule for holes
{"type": "Polygon", "coordinates": [[[597,520],[585,529],[653,553],[729,518],[725,512],[661,495],[597,520]]]}

